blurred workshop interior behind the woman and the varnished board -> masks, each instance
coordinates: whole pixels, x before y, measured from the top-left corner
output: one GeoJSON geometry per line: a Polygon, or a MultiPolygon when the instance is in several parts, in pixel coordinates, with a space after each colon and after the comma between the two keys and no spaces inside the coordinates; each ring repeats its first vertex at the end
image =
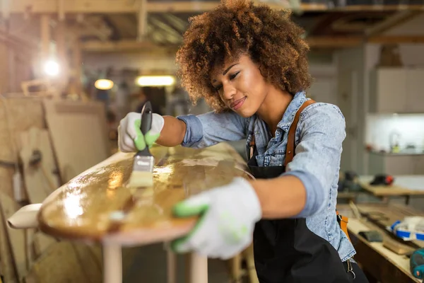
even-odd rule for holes
{"type": "MultiPolygon", "coordinates": [[[[424,241],[386,228],[424,216],[424,1],[263,2],[293,10],[311,48],[307,95],[338,105],[346,118],[338,209],[350,217],[356,260],[370,282],[421,282],[411,254],[424,241]]],[[[211,110],[191,105],[179,86],[175,52],[189,17],[216,5],[0,0],[3,282],[102,282],[98,247],[11,229],[6,219],[117,152],[119,120],[145,100],[161,115],[211,110]],[[42,175],[31,173],[37,162],[42,175]]],[[[231,144],[245,156],[245,141],[231,144]]],[[[184,282],[184,260],[177,262],[184,282]]],[[[211,283],[254,282],[244,264],[209,263],[211,283]]],[[[169,283],[163,244],[124,248],[123,282],[169,283]]]]}

